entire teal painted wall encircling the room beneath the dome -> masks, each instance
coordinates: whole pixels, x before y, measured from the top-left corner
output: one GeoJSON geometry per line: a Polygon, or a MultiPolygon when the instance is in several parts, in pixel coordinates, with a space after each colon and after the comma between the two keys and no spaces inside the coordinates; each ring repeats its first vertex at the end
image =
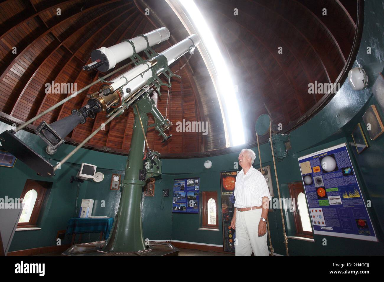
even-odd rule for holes
{"type": "MultiPolygon", "coordinates": [[[[380,1],[366,1],[364,12],[364,29],[361,46],[356,58],[355,66],[359,64],[366,70],[370,84],[367,89],[353,91],[348,82],[344,83],[333,99],[311,120],[290,134],[292,149],[283,162],[277,163],[277,173],[281,188],[281,196],[289,197],[288,183],[301,181],[298,166],[298,157],[308,153],[347,143],[348,150],[356,170],[359,185],[364,199],[372,201],[369,214],[373,220],[374,228],[381,242],[367,242],[331,236],[314,236],[315,242],[305,242],[289,239],[291,255],[356,255],[356,254],[384,254],[382,244],[384,221],[384,192],[382,190],[382,169],[384,167],[384,137],[377,140],[369,140],[370,148],[357,155],[351,145],[351,130],[357,122],[362,122],[364,114],[370,104],[376,104],[372,98],[371,87],[378,73],[383,69],[384,38],[382,26],[384,26],[384,12],[380,1]],[[366,53],[367,46],[371,46],[372,54],[366,53]],[[323,246],[323,238],[327,239],[327,245],[323,246]]],[[[381,111],[381,114],[382,111],[381,111]]],[[[382,115],[383,116],[383,115],[382,115]]],[[[364,127],[363,127],[364,128],[364,127]]],[[[5,129],[0,124],[0,131],[5,129]]],[[[366,136],[367,132],[365,132],[366,136]]],[[[43,151],[44,143],[28,132],[18,132],[18,136],[25,143],[33,144],[32,147],[41,155],[50,158],[43,151]]],[[[63,145],[52,163],[62,159],[74,147],[63,145]]],[[[199,215],[197,214],[172,214],[172,197],[162,197],[163,189],[170,189],[172,193],[173,180],[175,178],[200,177],[200,191],[220,191],[219,173],[225,170],[233,170],[233,162],[242,147],[233,153],[209,157],[190,159],[163,159],[162,176],[157,177],[155,196],[142,198],[142,219],[144,237],[151,240],[173,239],[189,242],[222,245],[222,227],[220,231],[203,231],[199,228],[199,215]],[[212,168],[204,168],[205,160],[211,160],[212,168]]],[[[256,148],[253,148],[254,150],[256,148]]],[[[273,167],[270,145],[261,145],[263,165],[273,167]]],[[[127,157],[101,153],[81,149],[70,162],[63,165],[54,178],[42,178],[37,176],[20,161],[14,168],[0,168],[1,187],[0,197],[7,195],[19,198],[26,179],[46,180],[53,182],[48,203],[40,218],[39,231],[18,231],[12,241],[10,251],[29,249],[33,247],[52,246],[56,244],[55,237],[58,230],[65,229],[68,219],[74,216],[74,201],[77,192],[77,183],[70,184],[71,175],[77,173],[81,162],[93,163],[102,171],[105,179],[101,183],[84,182],[81,185],[78,205],[82,198],[96,200],[94,207],[96,215],[114,216],[118,208],[119,191],[109,190],[112,173],[122,173],[127,157]],[[101,200],[106,201],[106,208],[101,208],[101,200]]],[[[258,165],[255,164],[255,167],[258,165]]],[[[273,181],[274,175],[271,176],[273,181]]],[[[277,195],[276,183],[274,191],[277,195]]],[[[220,193],[219,203],[221,206],[220,193]]],[[[286,230],[288,235],[295,233],[293,215],[290,211],[284,211],[286,230]]],[[[283,244],[282,223],[280,210],[276,209],[268,215],[270,220],[271,239],[274,250],[278,254],[285,254],[283,244]]],[[[221,215],[219,222],[221,222],[221,215]]],[[[83,241],[94,241],[98,234],[84,236],[83,241]]],[[[66,242],[69,242],[67,238],[66,242]]],[[[65,244],[65,242],[63,242],[65,244]]]]}

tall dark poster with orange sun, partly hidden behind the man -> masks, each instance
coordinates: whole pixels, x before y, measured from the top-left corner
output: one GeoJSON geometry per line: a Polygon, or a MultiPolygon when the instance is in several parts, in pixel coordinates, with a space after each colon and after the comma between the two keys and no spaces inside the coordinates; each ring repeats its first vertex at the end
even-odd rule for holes
{"type": "Polygon", "coordinates": [[[235,210],[235,182],[237,170],[232,172],[220,172],[221,203],[223,219],[223,247],[224,252],[235,252],[235,229],[231,227],[233,211],[235,210]]]}

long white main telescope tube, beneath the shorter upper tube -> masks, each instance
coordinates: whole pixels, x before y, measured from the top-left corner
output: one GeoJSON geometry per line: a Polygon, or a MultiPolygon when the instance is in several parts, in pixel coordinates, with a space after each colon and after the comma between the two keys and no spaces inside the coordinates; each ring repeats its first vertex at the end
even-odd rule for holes
{"type": "MultiPolygon", "coordinates": [[[[160,55],[163,55],[166,57],[167,59],[166,66],[169,66],[174,61],[179,59],[183,54],[187,53],[191,46],[196,46],[199,43],[200,43],[199,36],[192,34],[187,38],[185,38],[184,40],[180,41],[179,43],[176,43],[175,45],[164,50],[163,52],[160,53],[160,55]]],[[[153,65],[151,61],[147,61],[146,63],[139,64],[134,68],[131,68],[129,71],[123,73],[121,76],[118,76],[117,78],[112,79],[111,81],[112,84],[110,86],[113,87],[113,91],[116,91],[119,87],[124,86],[122,89],[122,96],[123,96],[122,98],[124,100],[127,97],[129,97],[131,93],[143,87],[148,81],[148,79],[152,77],[152,70],[151,70],[152,66],[153,65]],[[129,89],[130,91],[127,91],[129,89]]],[[[161,73],[161,71],[163,71],[166,66],[161,66],[161,68],[158,68],[156,74],[161,73]]]]}

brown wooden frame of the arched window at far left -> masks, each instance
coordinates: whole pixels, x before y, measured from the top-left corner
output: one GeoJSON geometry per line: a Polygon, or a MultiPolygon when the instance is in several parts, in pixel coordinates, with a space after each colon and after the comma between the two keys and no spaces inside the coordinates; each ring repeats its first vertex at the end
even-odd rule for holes
{"type": "Polygon", "coordinates": [[[25,194],[35,189],[37,192],[37,198],[35,205],[33,206],[32,214],[28,222],[22,222],[17,223],[17,228],[34,228],[37,227],[36,223],[40,216],[41,207],[43,206],[43,203],[45,202],[46,194],[49,188],[51,188],[52,183],[46,182],[46,181],[38,181],[38,180],[32,180],[27,179],[24,185],[24,189],[22,192],[21,198],[25,197],[25,194]]]}

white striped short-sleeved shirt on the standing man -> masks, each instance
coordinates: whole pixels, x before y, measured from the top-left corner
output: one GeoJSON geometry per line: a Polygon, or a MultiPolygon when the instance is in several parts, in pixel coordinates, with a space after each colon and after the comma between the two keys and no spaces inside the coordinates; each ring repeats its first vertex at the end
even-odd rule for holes
{"type": "Polygon", "coordinates": [[[236,176],[235,183],[235,207],[247,208],[250,206],[261,206],[263,197],[271,200],[265,178],[256,168],[250,167],[244,175],[241,170],[236,176]]]}

